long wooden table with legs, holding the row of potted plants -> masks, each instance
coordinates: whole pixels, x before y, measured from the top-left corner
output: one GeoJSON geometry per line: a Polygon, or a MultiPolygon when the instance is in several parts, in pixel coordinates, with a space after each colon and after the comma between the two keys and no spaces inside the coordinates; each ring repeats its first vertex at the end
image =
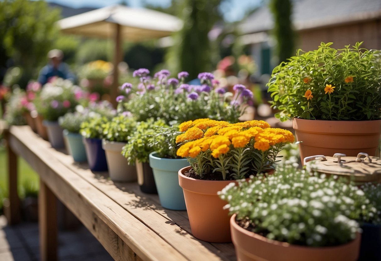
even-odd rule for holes
{"type": "Polygon", "coordinates": [[[39,227],[41,259],[57,259],[58,198],[99,240],[115,260],[235,260],[232,243],[207,243],[191,234],[186,211],[160,205],[157,195],[144,194],[136,182],[117,183],[107,172],[91,172],[66,150],[32,132],[11,126],[8,144],[10,224],[19,221],[17,157],[40,175],[39,227]]]}

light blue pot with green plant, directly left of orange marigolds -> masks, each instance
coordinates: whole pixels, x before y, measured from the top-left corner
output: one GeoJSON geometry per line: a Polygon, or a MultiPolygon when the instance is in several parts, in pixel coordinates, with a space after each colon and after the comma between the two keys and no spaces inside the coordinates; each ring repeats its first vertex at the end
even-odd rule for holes
{"type": "Polygon", "coordinates": [[[149,154],[149,166],[154,173],[160,204],[172,210],[186,210],[184,194],[179,186],[178,172],[189,165],[186,158],[176,155],[178,126],[155,126],[152,140],[154,152],[149,154]]]}

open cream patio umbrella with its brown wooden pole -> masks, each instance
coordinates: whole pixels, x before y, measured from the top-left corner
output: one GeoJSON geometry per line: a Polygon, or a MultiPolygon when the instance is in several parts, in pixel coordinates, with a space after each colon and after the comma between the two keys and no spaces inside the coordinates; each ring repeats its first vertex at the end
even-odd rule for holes
{"type": "Polygon", "coordinates": [[[154,10],[114,5],[61,19],[58,25],[64,33],[114,39],[114,80],[111,99],[115,105],[118,87],[117,66],[122,61],[122,39],[144,41],[166,37],[180,30],[182,21],[170,14],[154,10]]]}

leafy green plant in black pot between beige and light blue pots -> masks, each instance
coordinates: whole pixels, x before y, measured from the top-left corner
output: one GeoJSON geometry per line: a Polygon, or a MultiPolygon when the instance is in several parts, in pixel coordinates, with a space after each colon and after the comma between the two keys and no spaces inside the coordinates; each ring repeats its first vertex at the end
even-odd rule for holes
{"type": "Polygon", "coordinates": [[[165,126],[164,121],[147,119],[136,123],[136,129],[128,137],[128,143],[123,147],[122,155],[130,165],[136,165],[138,184],[144,193],[156,194],[157,189],[152,168],[149,166],[149,154],[154,151],[152,140],[155,135],[153,126],[165,126]]]}

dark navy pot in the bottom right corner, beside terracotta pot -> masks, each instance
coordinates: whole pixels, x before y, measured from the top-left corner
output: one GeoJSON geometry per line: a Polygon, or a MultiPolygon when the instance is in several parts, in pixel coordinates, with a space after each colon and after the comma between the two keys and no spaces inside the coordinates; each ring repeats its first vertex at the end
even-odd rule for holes
{"type": "Polygon", "coordinates": [[[358,261],[381,261],[381,225],[361,225],[360,258],[358,261]]]}

